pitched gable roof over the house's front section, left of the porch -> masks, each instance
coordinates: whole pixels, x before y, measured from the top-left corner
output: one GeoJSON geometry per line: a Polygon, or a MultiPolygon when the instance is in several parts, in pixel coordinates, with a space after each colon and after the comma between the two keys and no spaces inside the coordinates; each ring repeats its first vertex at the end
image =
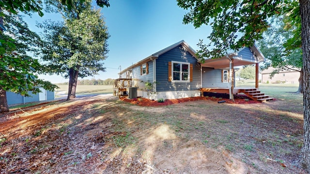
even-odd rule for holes
{"type": "Polygon", "coordinates": [[[182,40],[182,41],[177,42],[177,43],[174,43],[174,44],[172,44],[172,45],[170,45],[170,46],[168,46],[168,47],[166,47],[166,48],[164,48],[164,49],[162,49],[162,50],[160,50],[160,51],[157,51],[156,53],[152,54],[151,56],[148,56],[147,58],[144,58],[144,59],[140,60],[139,62],[137,62],[137,63],[135,63],[135,64],[133,64],[133,65],[127,67],[126,69],[124,69],[124,70],[121,71],[120,73],[122,74],[122,73],[124,73],[124,72],[126,72],[126,71],[128,71],[128,70],[130,70],[130,69],[132,69],[132,68],[135,68],[135,67],[137,67],[137,66],[140,66],[140,65],[142,65],[142,64],[144,64],[144,63],[146,63],[146,62],[148,62],[148,61],[154,60],[154,59],[158,58],[160,55],[162,55],[162,54],[164,54],[164,53],[170,51],[171,49],[173,49],[173,48],[175,48],[175,47],[177,47],[177,46],[179,46],[179,45],[182,45],[184,48],[186,48],[186,50],[187,50],[193,57],[196,58],[196,51],[195,51],[192,47],[190,47],[184,40],[182,40]]]}

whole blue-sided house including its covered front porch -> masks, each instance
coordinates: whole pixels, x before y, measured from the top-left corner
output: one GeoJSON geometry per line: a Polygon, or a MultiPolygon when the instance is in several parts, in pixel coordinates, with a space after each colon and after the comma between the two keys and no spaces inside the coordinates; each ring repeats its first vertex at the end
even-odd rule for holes
{"type": "Polygon", "coordinates": [[[204,63],[195,54],[182,40],[124,69],[120,78],[133,79],[138,96],[154,100],[196,97],[203,91],[217,92],[216,88],[233,94],[240,92],[233,90],[234,66],[256,64],[258,81],[258,64],[265,61],[255,45],[222,58],[206,58],[204,63]],[[146,91],[145,82],[153,83],[152,93],[146,91]]]}

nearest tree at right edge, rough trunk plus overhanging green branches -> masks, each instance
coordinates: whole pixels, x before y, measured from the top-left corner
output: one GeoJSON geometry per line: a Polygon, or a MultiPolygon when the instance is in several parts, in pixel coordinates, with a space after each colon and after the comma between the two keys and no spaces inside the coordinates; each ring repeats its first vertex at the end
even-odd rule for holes
{"type": "MultiPolygon", "coordinates": [[[[228,49],[237,51],[243,46],[252,46],[263,38],[270,26],[270,18],[286,15],[294,28],[288,45],[301,45],[303,52],[303,99],[304,99],[304,145],[300,163],[310,172],[310,0],[177,0],[186,10],[183,22],[195,28],[211,25],[208,36],[211,43],[198,44],[197,55],[202,58],[218,58],[228,49]],[[299,40],[301,36],[301,40],[299,40]],[[301,41],[301,42],[300,42],[301,41]],[[213,43],[213,47],[211,45],[213,43]]],[[[287,47],[288,48],[288,47],[287,47]]]]}

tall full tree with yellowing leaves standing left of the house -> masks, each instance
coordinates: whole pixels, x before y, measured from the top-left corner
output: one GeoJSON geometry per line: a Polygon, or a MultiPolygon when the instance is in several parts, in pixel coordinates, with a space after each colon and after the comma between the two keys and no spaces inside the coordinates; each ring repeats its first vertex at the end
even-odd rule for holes
{"type": "Polygon", "coordinates": [[[59,4],[63,22],[46,21],[42,59],[46,72],[69,78],[68,98],[75,98],[78,77],[105,71],[109,33],[100,10],[91,8],[91,0],[77,1],[72,9],[59,4]]]}

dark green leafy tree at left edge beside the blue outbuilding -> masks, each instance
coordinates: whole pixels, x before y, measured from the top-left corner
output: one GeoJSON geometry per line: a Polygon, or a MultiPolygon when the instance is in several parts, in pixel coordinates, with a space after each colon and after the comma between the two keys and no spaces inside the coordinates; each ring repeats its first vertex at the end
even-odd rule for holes
{"type": "Polygon", "coordinates": [[[40,72],[41,65],[27,55],[39,43],[39,36],[28,29],[21,16],[8,12],[3,15],[6,31],[0,32],[0,112],[8,112],[6,91],[29,96],[28,91],[40,92],[36,86],[47,90],[54,90],[57,86],[37,79],[36,73],[40,72]]]}

